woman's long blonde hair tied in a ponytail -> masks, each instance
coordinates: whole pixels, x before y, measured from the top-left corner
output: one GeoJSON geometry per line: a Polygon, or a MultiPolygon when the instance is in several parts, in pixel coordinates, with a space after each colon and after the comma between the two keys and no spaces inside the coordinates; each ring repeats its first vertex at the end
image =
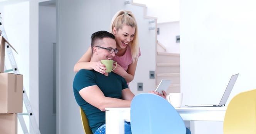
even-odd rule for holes
{"type": "Polygon", "coordinates": [[[138,60],[140,48],[138,41],[138,27],[135,16],[131,11],[120,10],[113,16],[110,25],[110,33],[113,34],[114,27],[116,27],[116,30],[118,31],[118,29],[123,28],[123,25],[135,27],[135,35],[130,45],[131,57],[133,62],[135,62],[136,60],[138,60]]]}

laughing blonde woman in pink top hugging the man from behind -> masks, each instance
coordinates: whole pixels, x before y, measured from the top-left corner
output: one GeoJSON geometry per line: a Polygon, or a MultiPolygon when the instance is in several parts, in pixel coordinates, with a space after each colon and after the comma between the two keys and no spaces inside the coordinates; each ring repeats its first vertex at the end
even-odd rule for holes
{"type": "MultiPolygon", "coordinates": [[[[124,77],[129,83],[134,78],[138,57],[141,55],[138,44],[138,28],[133,13],[125,10],[118,11],[112,18],[110,33],[114,34],[116,47],[119,50],[113,57],[118,64],[113,72],[124,77]]],[[[108,75],[105,65],[101,62],[90,62],[91,54],[91,47],[89,47],[74,66],[74,72],[78,72],[80,69],[94,69],[101,74],[108,75]]]]}

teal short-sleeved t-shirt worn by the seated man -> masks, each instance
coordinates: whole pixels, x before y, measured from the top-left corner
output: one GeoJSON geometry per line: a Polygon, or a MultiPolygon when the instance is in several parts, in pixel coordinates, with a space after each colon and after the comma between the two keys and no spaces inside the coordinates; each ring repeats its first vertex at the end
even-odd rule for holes
{"type": "Polygon", "coordinates": [[[97,85],[106,97],[122,97],[122,90],[128,88],[126,80],[113,72],[108,76],[100,74],[94,70],[82,69],[74,77],[73,91],[77,104],[84,110],[89,121],[89,126],[94,133],[98,127],[105,124],[105,112],[87,103],[79,94],[85,87],[97,85]]]}

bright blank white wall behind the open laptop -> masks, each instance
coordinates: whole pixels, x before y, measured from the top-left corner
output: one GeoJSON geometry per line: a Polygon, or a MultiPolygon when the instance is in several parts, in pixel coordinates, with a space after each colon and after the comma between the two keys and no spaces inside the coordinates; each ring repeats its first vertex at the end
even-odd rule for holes
{"type": "Polygon", "coordinates": [[[237,93],[256,88],[254,5],[253,0],[180,1],[183,105],[219,103],[237,73],[227,104],[237,93]]]}

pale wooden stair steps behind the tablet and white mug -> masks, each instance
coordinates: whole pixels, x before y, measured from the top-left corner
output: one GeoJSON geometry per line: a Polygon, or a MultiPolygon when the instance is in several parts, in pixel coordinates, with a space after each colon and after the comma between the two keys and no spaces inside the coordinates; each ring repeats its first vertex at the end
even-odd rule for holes
{"type": "Polygon", "coordinates": [[[180,93],[180,54],[168,53],[165,47],[157,42],[156,85],[162,79],[172,80],[167,90],[169,93],[180,93]]]}

